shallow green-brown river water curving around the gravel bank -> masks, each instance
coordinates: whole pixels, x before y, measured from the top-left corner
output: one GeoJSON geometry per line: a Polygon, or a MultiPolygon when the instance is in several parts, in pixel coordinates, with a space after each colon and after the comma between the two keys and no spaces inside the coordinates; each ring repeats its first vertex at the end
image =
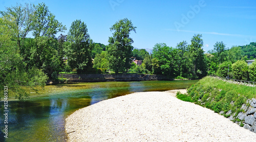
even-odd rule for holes
{"type": "MultiPolygon", "coordinates": [[[[48,93],[8,102],[8,138],[0,141],[66,141],[65,119],[79,108],[134,92],[187,89],[198,80],[94,82],[46,86],[48,93]]],[[[0,102],[4,114],[4,102],[0,102]]],[[[4,131],[4,117],[0,128],[4,131]]]]}

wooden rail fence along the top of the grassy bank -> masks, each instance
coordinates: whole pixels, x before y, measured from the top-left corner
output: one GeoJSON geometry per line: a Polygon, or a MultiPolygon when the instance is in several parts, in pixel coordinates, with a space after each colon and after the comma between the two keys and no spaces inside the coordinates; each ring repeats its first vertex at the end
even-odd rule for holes
{"type": "Polygon", "coordinates": [[[215,77],[215,78],[221,79],[225,82],[234,83],[234,84],[241,84],[241,85],[249,86],[249,87],[255,87],[256,86],[256,82],[252,82],[252,81],[224,78],[224,77],[219,77],[219,76],[216,76],[216,75],[210,75],[210,77],[215,77]]]}

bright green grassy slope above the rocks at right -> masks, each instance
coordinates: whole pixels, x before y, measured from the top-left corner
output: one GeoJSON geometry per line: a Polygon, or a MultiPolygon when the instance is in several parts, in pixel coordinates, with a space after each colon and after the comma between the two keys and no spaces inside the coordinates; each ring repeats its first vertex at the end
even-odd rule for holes
{"type": "MultiPolygon", "coordinates": [[[[191,86],[187,93],[197,104],[212,109],[215,112],[224,111],[225,117],[230,115],[236,117],[239,112],[243,111],[241,106],[246,104],[247,99],[256,98],[256,87],[228,83],[207,76],[191,86]],[[229,110],[232,113],[225,115],[229,110]]],[[[239,120],[236,119],[235,121],[239,120]]]]}

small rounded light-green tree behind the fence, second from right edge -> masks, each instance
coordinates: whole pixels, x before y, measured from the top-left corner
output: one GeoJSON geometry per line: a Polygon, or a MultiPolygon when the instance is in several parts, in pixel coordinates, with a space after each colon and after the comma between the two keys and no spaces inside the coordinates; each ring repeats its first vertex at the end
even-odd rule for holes
{"type": "Polygon", "coordinates": [[[234,79],[248,80],[248,65],[245,61],[239,60],[232,64],[232,73],[234,79]]]}

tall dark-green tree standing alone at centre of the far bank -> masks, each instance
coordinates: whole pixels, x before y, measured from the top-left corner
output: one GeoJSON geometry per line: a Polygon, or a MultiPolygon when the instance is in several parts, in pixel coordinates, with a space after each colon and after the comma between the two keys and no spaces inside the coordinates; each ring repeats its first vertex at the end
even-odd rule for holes
{"type": "Polygon", "coordinates": [[[127,18],[116,22],[110,31],[114,31],[113,37],[109,38],[109,45],[106,47],[108,52],[109,68],[115,73],[125,72],[131,66],[131,57],[133,50],[133,39],[130,33],[136,33],[136,26],[133,26],[131,20],[127,18]]]}

